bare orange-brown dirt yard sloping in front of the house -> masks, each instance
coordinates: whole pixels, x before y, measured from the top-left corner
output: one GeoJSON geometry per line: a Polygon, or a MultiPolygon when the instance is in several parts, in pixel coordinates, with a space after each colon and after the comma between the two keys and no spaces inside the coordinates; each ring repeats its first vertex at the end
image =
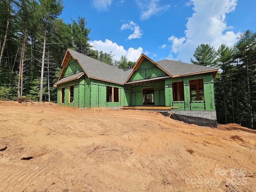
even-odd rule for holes
{"type": "Polygon", "coordinates": [[[0,101],[1,192],[256,192],[253,174],[256,130],[237,124],[0,101]]]}

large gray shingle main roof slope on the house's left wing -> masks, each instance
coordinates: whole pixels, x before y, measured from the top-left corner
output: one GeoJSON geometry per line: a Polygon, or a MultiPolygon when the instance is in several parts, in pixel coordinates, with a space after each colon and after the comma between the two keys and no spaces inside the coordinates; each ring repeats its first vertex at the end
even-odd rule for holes
{"type": "Polygon", "coordinates": [[[75,60],[78,60],[90,78],[124,84],[132,72],[131,70],[123,71],[122,69],[116,68],[71,49],[68,49],[68,51],[75,60]]]}

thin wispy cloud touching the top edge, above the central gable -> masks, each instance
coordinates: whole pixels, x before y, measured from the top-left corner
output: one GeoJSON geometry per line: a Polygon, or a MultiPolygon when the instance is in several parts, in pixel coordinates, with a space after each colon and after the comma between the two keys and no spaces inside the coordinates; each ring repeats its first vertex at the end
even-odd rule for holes
{"type": "Polygon", "coordinates": [[[148,19],[154,14],[165,12],[170,7],[170,5],[159,6],[159,1],[160,0],[137,0],[136,2],[142,10],[140,19],[148,19]]]}

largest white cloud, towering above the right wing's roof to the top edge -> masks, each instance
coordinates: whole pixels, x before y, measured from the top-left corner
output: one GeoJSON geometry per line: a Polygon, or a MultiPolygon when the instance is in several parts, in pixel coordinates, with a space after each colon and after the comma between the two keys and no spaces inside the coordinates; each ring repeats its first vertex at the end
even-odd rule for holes
{"type": "Polygon", "coordinates": [[[232,26],[227,26],[226,14],[236,8],[237,0],[192,0],[194,14],[188,18],[185,36],[168,38],[172,42],[171,55],[178,54],[176,60],[189,62],[196,47],[208,43],[216,49],[224,43],[234,45],[240,32],[234,33],[232,26]],[[172,54],[173,53],[173,54],[172,54]]]}

